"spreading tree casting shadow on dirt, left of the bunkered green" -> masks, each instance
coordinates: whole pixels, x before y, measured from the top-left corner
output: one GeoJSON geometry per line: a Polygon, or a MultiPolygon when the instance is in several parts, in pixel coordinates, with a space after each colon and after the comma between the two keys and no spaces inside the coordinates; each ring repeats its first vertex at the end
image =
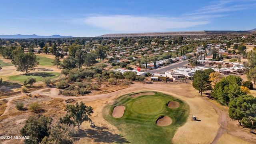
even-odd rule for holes
{"type": "Polygon", "coordinates": [[[78,126],[78,129],[80,128],[82,122],[91,122],[90,116],[93,113],[93,108],[91,106],[84,105],[82,101],[80,104],[78,104],[78,102],[76,102],[75,105],[68,104],[65,111],[67,111],[68,114],[73,118],[76,126],[78,126]]]}

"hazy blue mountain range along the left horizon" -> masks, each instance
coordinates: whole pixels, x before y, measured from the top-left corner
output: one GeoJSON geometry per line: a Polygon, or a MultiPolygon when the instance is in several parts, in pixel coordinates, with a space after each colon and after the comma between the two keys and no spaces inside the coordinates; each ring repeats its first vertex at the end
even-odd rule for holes
{"type": "Polygon", "coordinates": [[[52,35],[52,36],[38,36],[36,34],[32,35],[0,35],[0,38],[74,38],[73,36],[60,36],[60,35],[52,35]]]}

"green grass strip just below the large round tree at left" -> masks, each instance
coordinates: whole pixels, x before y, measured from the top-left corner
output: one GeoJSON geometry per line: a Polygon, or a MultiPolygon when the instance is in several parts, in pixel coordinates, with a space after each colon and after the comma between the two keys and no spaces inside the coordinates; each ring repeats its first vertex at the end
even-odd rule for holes
{"type": "Polygon", "coordinates": [[[35,72],[29,74],[22,74],[18,76],[10,76],[9,79],[23,83],[24,80],[26,80],[29,77],[36,78],[36,82],[38,82],[42,81],[42,79],[46,77],[57,78],[58,76],[60,76],[60,73],[58,72],[35,72]]]}

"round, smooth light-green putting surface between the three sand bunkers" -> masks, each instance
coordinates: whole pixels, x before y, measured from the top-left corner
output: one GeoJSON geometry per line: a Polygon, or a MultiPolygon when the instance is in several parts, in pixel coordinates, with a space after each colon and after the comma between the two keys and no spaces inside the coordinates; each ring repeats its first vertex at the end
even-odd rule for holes
{"type": "Polygon", "coordinates": [[[132,110],[139,114],[154,114],[160,112],[164,107],[162,100],[150,96],[137,98],[132,103],[132,110]]]}

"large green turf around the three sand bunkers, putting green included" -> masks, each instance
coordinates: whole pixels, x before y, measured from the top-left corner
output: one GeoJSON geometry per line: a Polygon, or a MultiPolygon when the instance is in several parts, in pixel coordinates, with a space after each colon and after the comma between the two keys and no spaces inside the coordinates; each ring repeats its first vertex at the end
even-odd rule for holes
{"type": "Polygon", "coordinates": [[[113,105],[104,107],[103,117],[120,130],[123,138],[132,144],[171,144],[176,130],[182,126],[189,115],[188,104],[168,94],[155,92],[151,96],[131,97],[132,94],[120,96],[113,105]],[[169,108],[168,102],[176,101],[178,108],[169,108]],[[125,106],[124,115],[114,118],[115,106],[125,106]],[[169,116],[172,124],[158,126],[160,116],[169,116]]]}

